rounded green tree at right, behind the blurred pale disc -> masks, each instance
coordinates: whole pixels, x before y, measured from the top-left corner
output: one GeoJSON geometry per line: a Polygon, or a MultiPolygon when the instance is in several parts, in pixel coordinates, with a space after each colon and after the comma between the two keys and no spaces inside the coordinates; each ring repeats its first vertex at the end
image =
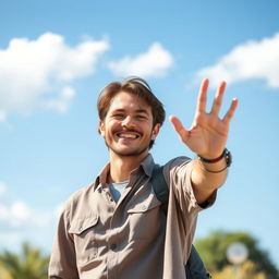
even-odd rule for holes
{"type": "Polygon", "coordinates": [[[260,250],[258,241],[246,232],[214,231],[209,236],[196,241],[195,246],[210,272],[221,271],[230,265],[226,253],[232,242],[242,242],[246,245],[248,260],[255,265],[255,272],[264,272],[267,279],[279,279],[279,272],[268,253],[260,250]]]}

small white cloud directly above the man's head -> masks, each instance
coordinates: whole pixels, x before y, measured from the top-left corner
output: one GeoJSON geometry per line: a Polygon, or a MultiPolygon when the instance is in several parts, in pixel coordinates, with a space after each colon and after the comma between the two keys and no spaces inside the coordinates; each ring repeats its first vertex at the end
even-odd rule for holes
{"type": "Polygon", "coordinates": [[[171,53],[158,43],[153,44],[147,52],[135,58],[129,56],[109,63],[109,69],[117,75],[162,76],[173,65],[171,53]]]}

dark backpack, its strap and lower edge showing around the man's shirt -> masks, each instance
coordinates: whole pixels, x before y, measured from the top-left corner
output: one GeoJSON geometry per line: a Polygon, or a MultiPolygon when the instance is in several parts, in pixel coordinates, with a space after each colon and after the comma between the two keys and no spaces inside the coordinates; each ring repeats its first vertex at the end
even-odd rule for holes
{"type": "MultiPolygon", "coordinates": [[[[162,167],[156,165],[153,169],[153,174],[150,179],[153,190],[157,198],[161,202],[161,208],[167,216],[168,213],[168,201],[169,201],[169,186],[165,180],[162,173],[162,167]]],[[[185,264],[185,275],[186,279],[210,279],[211,276],[207,272],[205,265],[199,257],[197,251],[192,244],[191,253],[185,264]]]]}

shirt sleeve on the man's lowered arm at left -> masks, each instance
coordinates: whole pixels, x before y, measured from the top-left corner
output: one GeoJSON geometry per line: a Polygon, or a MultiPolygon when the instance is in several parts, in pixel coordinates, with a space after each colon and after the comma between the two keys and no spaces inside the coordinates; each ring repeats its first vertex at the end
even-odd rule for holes
{"type": "Polygon", "coordinates": [[[69,233],[66,209],[60,216],[58,229],[50,255],[49,279],[78,279],[75,247],[69,233]]]}

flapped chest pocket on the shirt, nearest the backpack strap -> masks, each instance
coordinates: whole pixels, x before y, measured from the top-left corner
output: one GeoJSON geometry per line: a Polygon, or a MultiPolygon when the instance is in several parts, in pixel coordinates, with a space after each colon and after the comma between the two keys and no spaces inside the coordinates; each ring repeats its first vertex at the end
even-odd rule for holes
{"type": "Polygon", "coordinates": [[[150,195],[144,201],[134,201],[126,210],[130,225],[130,241],[153,240],[160,233],[166,221],[161,203],[150,195]]]}

